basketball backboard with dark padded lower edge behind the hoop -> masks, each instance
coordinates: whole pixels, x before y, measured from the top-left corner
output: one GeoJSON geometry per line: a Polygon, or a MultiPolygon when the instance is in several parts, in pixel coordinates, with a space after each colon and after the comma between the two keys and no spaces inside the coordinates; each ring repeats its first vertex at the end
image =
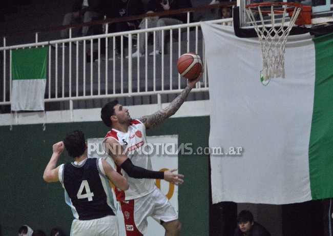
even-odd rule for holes
{"type": "MultiPolygon", "coordinates": [[[[259,3],[300,3],[311,10],[311,23],[301,27],[294,27],[290,34],[299,34],[314,31],[315,35],[323,35],[333,32],[333,0],[237,0],[237,7],[234,8],[234,28],[235,34],[239,37],[255,37],[257,34],[253,29],[251,19],[248,17],[245,6],[259,3]],[[327,27],[330,26],[330,27],[327,27]]],[[[270,16],[269,16],[270,19],[270,16]]],[[[281,21],[278,15],[275,17],[275,22],[281,21]]],[[[286,17],[288,22],[289,18],[286,17]]],[[[261,24],[260,21],[257,22],[261,24]]]]}

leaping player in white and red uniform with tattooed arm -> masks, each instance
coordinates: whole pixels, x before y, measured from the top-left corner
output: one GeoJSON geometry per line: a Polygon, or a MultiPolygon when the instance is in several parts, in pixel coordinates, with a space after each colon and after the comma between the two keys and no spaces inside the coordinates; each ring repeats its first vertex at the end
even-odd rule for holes
{"type": "Polygon", "coordinates": [[[165,229],[165,235],[179,235],[181,224],[177,214],[154,179],[164,179],[174,184],[183,183],[182,174],[174,174],[176,169],[164,172],[153,171],[147,152],[137,150],[147,143],[145,130],[154,128],[176,113],[192,88],[201,77],[188,81],[188,86],[165,109],[154,114],[132,120],[126,107],[114,100],[101,109],[103,123],[111,128],[103,146],[114,160],[117,171],[128,181],[130,188],[116,191],[124,215],[127,236],[143,235],[147,229],[147,218],[152,217],[165,229]],[[126,151],[125,151],[126,150],[126,151]]]}

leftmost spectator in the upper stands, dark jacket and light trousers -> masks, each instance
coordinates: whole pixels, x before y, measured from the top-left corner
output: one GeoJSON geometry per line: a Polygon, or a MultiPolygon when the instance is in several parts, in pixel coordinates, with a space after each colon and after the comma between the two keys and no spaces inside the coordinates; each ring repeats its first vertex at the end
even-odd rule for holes
{"type": "MultiPolygon", "coordinates": [[[[63,26],[91,22],[94,17],[102,17],[106,2],[104,0],[74,0],[72,12],[64,17],[63,26]]],[[[89,26],[82,27],[81,35],[86,36],[89,26]]],[[[61,38],[69,37],[69,29],[61,30],[61,38]]]]}

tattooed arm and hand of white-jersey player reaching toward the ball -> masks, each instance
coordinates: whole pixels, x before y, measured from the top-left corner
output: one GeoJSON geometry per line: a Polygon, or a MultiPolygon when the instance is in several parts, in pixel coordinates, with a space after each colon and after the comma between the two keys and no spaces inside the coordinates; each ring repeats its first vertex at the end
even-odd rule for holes
{"type": "Polygon", "coordinates": [[[184,90],[170,103],[168,107],[160,109],[151,115],[142,116],[138,120],[140,120],[144,124],[146,129],[151,129],[162,124],[166,119],[168,119],[170,116],[175,114],[176,111],[178,111],[178,109],[185,102],[189,93],[194,88],[195,84],[199,81],[201,76],[202,73],[200,73],[197,78],[193,80],[188,80],[188,86],[184,88],[184,90]]]}

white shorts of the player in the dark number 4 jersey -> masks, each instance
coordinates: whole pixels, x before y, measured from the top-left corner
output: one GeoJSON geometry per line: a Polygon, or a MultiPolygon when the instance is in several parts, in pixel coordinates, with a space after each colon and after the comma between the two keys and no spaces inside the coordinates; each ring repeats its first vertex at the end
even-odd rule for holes
{"type": "Polygon", "coordinates": [[[88,221],[75,219],[71,236],[119,236],[118,219],[115,215],[88,221]]]}

